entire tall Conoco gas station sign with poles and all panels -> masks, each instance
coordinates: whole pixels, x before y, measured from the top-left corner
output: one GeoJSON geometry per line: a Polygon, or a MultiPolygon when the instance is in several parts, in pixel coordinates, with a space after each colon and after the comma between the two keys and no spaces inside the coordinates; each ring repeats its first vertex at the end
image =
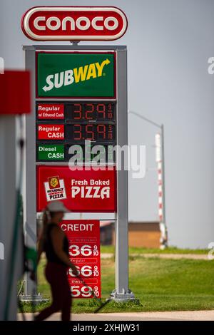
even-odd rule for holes
{"type": "MultiPolygon", "coordinates": [[[[127,24],[120,9],[93,6],[34,7],[21,22],[34,41],[73,43],[24,46],[26,69],[34,78],[34,114],[26,118],[26,221],[36,234],[37,215],[56,200],[68,212],[117,213],[117,243],[123,238],[124,249],[116,255],[116,267],[122,268],[116,274],[124,275],[115,294],[128,292],[126,155],[121,168],[116,165],[117,146],[128,142],[126,46],[79,46],[78,41],[113,41],[127,24]]],[[[68,269],[72,296],[91,298],[93,289],[100,298],[99,221],[63,220],[61,229],[80,276],[68,269]]],[[[35,247],[29,232],[26,240],[35,247]]],[[[31,294],[29,288],[28,283],[31,294]]]]}

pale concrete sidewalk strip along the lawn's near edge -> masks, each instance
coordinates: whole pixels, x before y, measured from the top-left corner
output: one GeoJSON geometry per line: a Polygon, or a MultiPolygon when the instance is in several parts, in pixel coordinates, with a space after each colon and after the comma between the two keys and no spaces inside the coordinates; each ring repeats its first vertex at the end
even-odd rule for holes
{"type": "MultiPolygon", "coordinates": [[[[32,314],[26,313],[26,321],[32,320],[32,314]]],[[[49,321],[60,321],[61,314],[55,313],[49,321]]],[[[21,314],[17,319],[22,320],[21,314]]],[[[213,311],[149,311],[140,313],[99,313],[72,314],[72,321],[214,321],[213,311]]]]}

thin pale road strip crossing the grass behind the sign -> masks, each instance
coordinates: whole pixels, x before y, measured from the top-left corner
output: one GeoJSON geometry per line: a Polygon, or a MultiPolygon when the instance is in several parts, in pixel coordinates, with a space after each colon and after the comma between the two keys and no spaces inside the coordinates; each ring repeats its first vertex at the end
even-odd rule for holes
{"type": "MultiPolygon", "coordinates": [[[[152,258],[152,257],[158,257],[158,258],[164,258],[164,259],[204,259],[209,260],[207,254],[130,254],[130,256],[133,257],[146,257],[146,258],[152,258]]],[[[108,259],[113,257],[113,254],[101,254],[101,258],[108,259]]]]}

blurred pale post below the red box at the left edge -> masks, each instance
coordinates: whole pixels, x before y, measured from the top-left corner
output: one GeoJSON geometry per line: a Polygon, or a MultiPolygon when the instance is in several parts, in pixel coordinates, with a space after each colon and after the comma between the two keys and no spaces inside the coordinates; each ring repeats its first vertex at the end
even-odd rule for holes
{"type": "MultiPolygon", "coordinates": [[[[9,274],[14,220],[16,211],[16,120],[15,116],[0,116],[0,242],[3,253],[0,257],[0,320],[16,320],[17,313],[17,279],[19,267],[14,267],[9,274]],[[10,299],[7,285],[12,275],[10,299]]],[[[16,255],[14,255],[16,257],[16,255]]]]}

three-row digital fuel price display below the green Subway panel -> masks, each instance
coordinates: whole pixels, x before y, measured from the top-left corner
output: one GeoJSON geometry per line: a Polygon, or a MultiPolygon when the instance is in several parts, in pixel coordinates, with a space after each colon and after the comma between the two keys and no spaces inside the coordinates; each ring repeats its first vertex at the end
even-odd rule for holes
{"type": "Polygon", "coordinates": [[[36,102],[36,129],[39,162],[68,162],[74,155],[85,163],[94,158],[100,163],[115,161],[116,101],[36,102]],[[86,140],[91,148],[101,145],[101,150],[87,154],[86,140]],[[71,145],[78,145],[76,154],[69,154],[71,145]]]}

